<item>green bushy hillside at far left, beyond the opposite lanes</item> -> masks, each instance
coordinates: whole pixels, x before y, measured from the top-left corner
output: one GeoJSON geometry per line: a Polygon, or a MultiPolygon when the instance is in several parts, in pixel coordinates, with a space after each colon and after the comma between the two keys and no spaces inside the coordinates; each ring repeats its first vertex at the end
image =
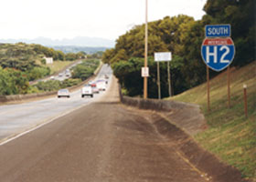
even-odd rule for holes
{"type": "Polygon", "coordinates": [[[0,44],[0,96],[35,93],[38,90],[29,81],[58,72],[84,56],[83,52],[65,55],[42,45],[0,44]],[[47,65],[44,57],[52,57],[53,64],[47,65]]]}

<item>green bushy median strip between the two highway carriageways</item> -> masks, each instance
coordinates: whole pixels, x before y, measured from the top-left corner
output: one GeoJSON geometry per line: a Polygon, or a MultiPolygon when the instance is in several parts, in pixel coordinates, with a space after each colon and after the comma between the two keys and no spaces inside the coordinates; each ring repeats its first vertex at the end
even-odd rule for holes
{"type": "Polygon", "coordinates": [[[80,84],[80,82],[92,76],[98,66],[100,66],[99,59],[83,60],[81,64],[74,66],[71,69],[71,74],[72,74],[71,78],[65,79],[64,81],[59,81],[59,80],[48,80],[46,82],[41,81],[33,86],[33,90],[35,90],[35,92],[57,91],[60,88],[76,86],[80,84]]]}

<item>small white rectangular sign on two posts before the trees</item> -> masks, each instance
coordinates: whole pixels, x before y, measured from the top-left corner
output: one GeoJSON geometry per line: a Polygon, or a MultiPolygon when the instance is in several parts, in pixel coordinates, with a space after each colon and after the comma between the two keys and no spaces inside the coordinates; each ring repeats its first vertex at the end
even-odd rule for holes
{"type": "Polygon", "coordinates": [[[161,84],[160,84],[160,61],[167,61],[167,73],[168,73],[168,85],[169,85],[169,96],[171,96],[171,76],[170,76],[170,65],[169,61],[172,60],[171,52],[155,53],[155,62],[157,62],[157,86],[158,86],[158,98],[161,99],[161,84]]]}

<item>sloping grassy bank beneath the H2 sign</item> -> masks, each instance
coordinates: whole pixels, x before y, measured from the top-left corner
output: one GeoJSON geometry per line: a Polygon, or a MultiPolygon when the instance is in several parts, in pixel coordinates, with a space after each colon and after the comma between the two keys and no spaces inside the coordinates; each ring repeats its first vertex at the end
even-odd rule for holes
{"type": "Polygon", "coordinates": [[[256,61],[230,72],[230,108],[226,72],[210,80],[210,112],[206,84],[171,99],[201,106],[208,129],[195,136],[197,142],[237,167],[243,177],[256,181],[256,61]],[[243,84],[248,87],[248,118],[244,115],[243,84]]]}

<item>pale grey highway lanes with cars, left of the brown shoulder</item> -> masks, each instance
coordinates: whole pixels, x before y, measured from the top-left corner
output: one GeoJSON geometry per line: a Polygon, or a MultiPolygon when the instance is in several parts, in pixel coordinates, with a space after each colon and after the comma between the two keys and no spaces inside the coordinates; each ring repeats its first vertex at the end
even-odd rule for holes
{"type": "MultiPolygon", "coordinates": [[[[105,75],[112,77],[112,70],[107,65],[102,66],[95,80],[105,75]]],[[[81,98],[80,90],[77,90],[70,94],[70,98],[56,96],[24,104],[0,106],[0,144],[35,126],[43,125],[81,106],[86,106],[103,94],[104,92],[101,92],[94,94],[93,98],[81,98]]]]}

